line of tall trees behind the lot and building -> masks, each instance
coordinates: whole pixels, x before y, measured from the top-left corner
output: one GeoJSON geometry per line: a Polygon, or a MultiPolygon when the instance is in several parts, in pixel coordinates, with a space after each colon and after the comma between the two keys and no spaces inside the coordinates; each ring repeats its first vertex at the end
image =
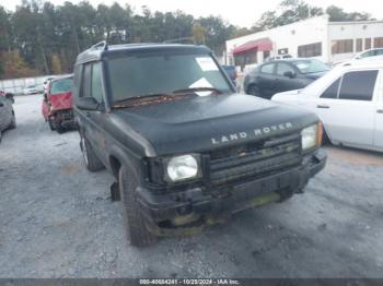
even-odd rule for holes
{"type": "Polygon", "coordinates": [[[77,55],[104,39],[109,44],[204,44],[220,56],[230,38],[323,13],[328,13],[330,21],[371,20],[368,13],[346,13],[338,7],[323,10],[302,0],[283,0],[277,10],[265,12],[253,27],[244,28],[220,16],[196,19],[183,11],[159,12],[142,7],[137,13],[129,4],[93,7],[86,1],[67,1],[55,5],[23,0],[14,11],[0,5],[0,79],[71,72],[77,55]]]}

